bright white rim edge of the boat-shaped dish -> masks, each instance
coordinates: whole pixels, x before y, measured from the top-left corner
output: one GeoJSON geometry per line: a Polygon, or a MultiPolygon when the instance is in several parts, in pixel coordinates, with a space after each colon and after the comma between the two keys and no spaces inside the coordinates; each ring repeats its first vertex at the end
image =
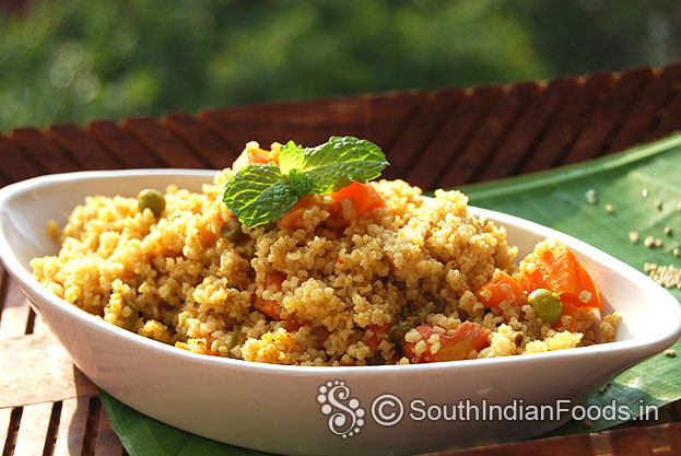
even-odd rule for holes
{"type": "MultiPolygon", "coordinates": [[[[59,173],[44,176],[33,177],[26,180],[21,180],[14,184],[10,184],[0,189],[0,214],[7,212],[8,203],[26,191],[49,187],[52,185],[75,183],[82,180],[93,180],[102,178],[120,178],[120,177],[142,177],[142,176],[161,176],[172,178],[173,176],[190,176],[190,177],[207,177],[206,184],[210,184],[210,177],[218,173],[216,169],[190,169],[190,168],[139,168],[139,169],[111,169],[111,171],[79,171],[71,173],[59,173]]],[[[674,304],[678,304],[677,299],[667,290],[655,283],[648,277],[637,271],[633,267],[625,262],[610,256],[609,254],[570,236],[565,233],[559,232],[551,227],[535,223],[532,221],[521,219],[515,215],[506,214],[503,212],[492,211],[489,209],[482,209],[478,207],[469,206],[468,209],[475,214],[488,217],[491,220],[495,220],[500,225],[506,224],[527,226],[533,233],[537,233],[543,237],[555,237],[565,242],[571,248],[575,248],[579,254],[584,254],[591,258],[601,258],[604,261],[598,260],[600,264],[606,265],[609,269],[615,269],[620,273],[624,274],[630,280],[645,280],[645,290],[655,295],[661,301],[671,300],[674,304]]],[[[115,325],[104,321],[101,317],[89,314],[87,312],[69,304],[67,301],[57,297],[50,293],[45,287],[43,287],[33,274],[22,266],[16,256],[14,255],[12,245],[4,236],[4,227],[0,226],[0,258],[5,266],[8,273],[20,282],[22,291],[24,289],[31,290],[37,294],[39,299],[48,303],[48,305],[55,307],[61,313],[68,314],[71,318],[74,318],[79,324],[95,326],[97,329],[108,331],[117,339],[124,340],[125,343],[138,343],[142,344],[149,350],[158,351],[160,354],[169,356],[179,356],[185,362],[191,362],[193,364],[201,364],[207,367],[222,367],[238,371],[262,372],[269,374],[293,374],[293,375],[319,375],[324,378],[328,377],[329,373],[336,375],[343,375],[348,377],[356,375],[374,375],[378,373],[389,373],[391,375],[414,372],[441,372],[451,371],[468,371],[468,370],[489,370],[501,369],[508,363],[519,364],[535,364],[544,363],[547,361],[561,362],[561,360],[572,358],[584,358],[591,355],[606,355],[612,353],[625,353],[626,359],[630,360],[629,365],[633,365],[644,359],[656,354],[664,350],[666,347],[670,347],[679,339],[681,335],[681,309],[679,306],[670,305],[673,315],[667,316],[671,318],[669,324],[669,330],[664,332],[656,332],[654,337],[632,337],[631,339],[612,341],[606,343],[599,343],[588,347],[577,347],[572,349],[564,349],[551,352],[541,353],[527,353],[526,355],[514,356],[500,356],[490,358],[484,360],[461,360],[461,361],[447,361],[439,363],[424,363],[424,364],[408,364],[408,365],[368,365],[368,366],[301,366],[301,365],[281,365],[281,364],[268,364],[253,361],[235,360],[222,356],[207,356],[186,350],[177,349],[171,344],[158,342],[153,339],[145,338],[134,332],[128,331],[124,328],[119,328],[115,325]],[[676,312],[674,312],[676,311],[676,312]],[[329,371],[331,369],[331,371],[329,371]]],[[[644,285],[642,285],[644,288],[644,285]]],[[[33,303],[32,303],[33,305],[33,303]]],[[[617,306],[613,306],[617,309],[617,306]]]]}

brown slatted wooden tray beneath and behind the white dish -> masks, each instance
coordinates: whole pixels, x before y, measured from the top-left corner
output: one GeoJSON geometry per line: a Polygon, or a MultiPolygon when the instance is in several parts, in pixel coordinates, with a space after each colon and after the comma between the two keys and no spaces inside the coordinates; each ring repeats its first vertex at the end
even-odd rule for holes
{"type": "MultiPolygon", "coordinates": [[[[353,135],[383,147],[387,178],[426,190],[614,153],[681,129],[681,63],[661,69],[167,114],[0,135],[0,186],[48,173],[222,168],[247,141],[305,145],[353,135]]],[[[122,455],[96,387],[0,270],[0,448],[9,455],[122,455]]],[[[469,455],[681,454],[681,407],[658,422],[519,442],[469,455]]]]}

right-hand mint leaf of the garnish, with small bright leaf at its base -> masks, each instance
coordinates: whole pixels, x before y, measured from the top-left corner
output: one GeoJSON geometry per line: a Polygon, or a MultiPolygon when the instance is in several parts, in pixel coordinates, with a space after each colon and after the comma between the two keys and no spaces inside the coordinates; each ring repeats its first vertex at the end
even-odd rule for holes
{"type": "Polygon", "coordinates": [[[289,141],[279,154],[281,173],[304,173],[312,180],[309,192],[317,195],[340,190],[352,180],[374,179],[387,165],[378,145],[353,137],[331,137],[316,148],[289,141]]]}

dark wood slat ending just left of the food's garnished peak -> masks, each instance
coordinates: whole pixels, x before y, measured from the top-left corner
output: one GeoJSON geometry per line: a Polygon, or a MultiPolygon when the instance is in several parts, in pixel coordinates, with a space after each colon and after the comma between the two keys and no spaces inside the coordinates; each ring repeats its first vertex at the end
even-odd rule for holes
{"type": "Polygon", "coordinates": [[[215,169],[232,165],[240,152],[240,149],[237,151],[232,144],[225,143],[206,124],[190,114],[167,114],[162,122],[215,169]]]}

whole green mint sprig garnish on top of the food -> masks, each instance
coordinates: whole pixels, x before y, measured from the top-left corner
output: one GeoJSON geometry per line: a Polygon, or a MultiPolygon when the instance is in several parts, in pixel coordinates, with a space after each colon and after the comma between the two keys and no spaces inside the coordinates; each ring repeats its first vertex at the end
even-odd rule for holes
{"type": "Polygon", "coordinates": [[[289,141],[274,163],[242,167],[225,186],[223,201],[254,227],[282,217],[304,196],[326,195],[380,176],[388,165],[380,148],[364,139],[331,137],[316,148],[289,141]]]}

